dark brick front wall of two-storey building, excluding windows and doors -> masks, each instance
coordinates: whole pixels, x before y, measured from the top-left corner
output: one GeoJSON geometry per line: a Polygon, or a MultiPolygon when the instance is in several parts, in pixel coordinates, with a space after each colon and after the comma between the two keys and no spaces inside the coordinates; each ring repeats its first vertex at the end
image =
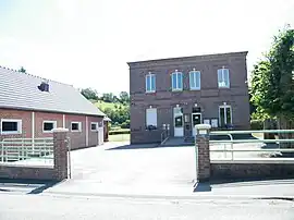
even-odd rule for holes
{"type": "MultiPolygon", "coordinates": [[[[131,94],[131,143],[148,143],[158,139],[157,133],[145,131],[146,109],[157,108],[157,124],[170,124],[173,136],[173,108],[180,105],[191,115],[195,103],[201,107],[203,119],[219,119],[219,106],[226,102],[232,108],[235,130],[249,129],[249,99],[246,70],[246,52],[172,58],[163,60],[130,63],[131,94]],[[217,71],[225,66],[230,70],[230,88],[218,88],[217,71]],[[201,89],[191,90],[188,72],[201,72],[201,89]],[[170,74],[177,70],[183,73],[183,91],[171,91],[170,74]],[[156,93],[146,94],[146,75],[156,74],[156,93]],[[136,137],[136,135],[139,137],[136,137]],[[133,133],[133,135],[132,135],[133,133]]],[[[192,124],[191,124],[192,125],[192,124]]],[[[189,131],[192,133],[192,131],[189,131]]],[[[187,134],[187,133],[186,133],[187,134]]],[[[192,135],[192,134],[191,134],[192,135]]]]}

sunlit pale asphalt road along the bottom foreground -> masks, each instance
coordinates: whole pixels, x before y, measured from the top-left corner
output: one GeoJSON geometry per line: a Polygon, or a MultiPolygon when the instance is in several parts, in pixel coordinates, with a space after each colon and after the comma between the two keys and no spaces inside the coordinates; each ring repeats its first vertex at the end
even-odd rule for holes
{"type": "Polygon", "coordinates": [[[1,220],[293,220],[284,200],[171,200],[0,194],[1,220]]]}

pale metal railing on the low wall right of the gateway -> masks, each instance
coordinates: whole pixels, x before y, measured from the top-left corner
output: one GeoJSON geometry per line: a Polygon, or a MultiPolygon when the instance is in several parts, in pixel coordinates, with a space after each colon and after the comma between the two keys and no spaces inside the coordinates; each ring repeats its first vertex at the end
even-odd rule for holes
{"type": "MultiPolygon", "coordinates": [[[[262,154],[274,154],[275,156],[282,155],[284,152],[293,152],[294,155],[294,148],[281,148],[282,143],[294,143],[294,138],[285,138],[285,139],[264,139],[264,138],[247,138],[247,139],[234,139],[233,135],[234,134],[256,134],[256,133],[268,133],[268,134],[290,134],[294,133],[294,130],[260,130],[260,131],[220,131],[220,132],[211,132],[211,136],[222,136],[226,135],[229,136],[230,139],[219,139],[219,140],[209,140],[210,144],[210,152],[223,152],[222,160],[235,160],[236,159],[236,154],[241,156],[240,154],[245,154],[245,152],[254,152],[253,155],[247,155],[247,158],[262,158],[268,157],[270,155],[260,155],[262,154]],[[275,146],[271,146],[269,148],[265,147],[261,148],[261,146],[257,146],[254,144],[275,144],[275,146]],[[212,144],[212,145],[211,145],[212,144]],[[223,147],[220,148],[219,144],[223,144],[223,147]],[[229,144],[230,148],[226,147],[229,144]],[[235,147],[234,144],[249,144],[252,146],[245,145],[243,147],[235,147]],[[228,152],[229,156],[228,157],[228,152]],[[261,157],[262,156],[262,157],[261,157]]],[[[212,155],[211,155],[212,156],[212,155]]],[[[213,158],[213,157],[212,157],[213,158]]],[[[244,155],[242,157],[238,157],[238,159],[244,158],[244,155]]],[[[213,160],[213,159],[212,159],[213,160]]],[[[293,158],[294,160],[294,158],[293,158]]]]}

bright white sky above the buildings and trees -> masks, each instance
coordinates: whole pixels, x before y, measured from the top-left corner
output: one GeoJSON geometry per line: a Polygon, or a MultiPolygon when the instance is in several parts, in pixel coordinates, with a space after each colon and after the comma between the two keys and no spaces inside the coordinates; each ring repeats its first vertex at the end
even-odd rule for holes
{"type": "Polygon", "coordinates": [[[248,72],[293,0],[0,0],[0,65],[98,93],[128,91],[126,62],[248,51],[248,72]]]}

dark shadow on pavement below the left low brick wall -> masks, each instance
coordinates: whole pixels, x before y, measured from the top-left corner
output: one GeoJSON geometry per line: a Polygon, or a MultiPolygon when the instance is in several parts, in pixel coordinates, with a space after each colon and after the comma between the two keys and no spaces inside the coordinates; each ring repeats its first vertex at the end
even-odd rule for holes
{"type": "MultiPolygon", "coordinates": [[[[0,184],[5,184],[9,187],[29,187],[29,185],[36,185],[27,194],[40,194],[45,190],[50,188],[60,183],[59,181],[42,181],[42,180],[11,180],[11,179],[0,179],[0,184]]],[[[11,192],[11,190],[0,188],[0,192],[11,192]]]]}

